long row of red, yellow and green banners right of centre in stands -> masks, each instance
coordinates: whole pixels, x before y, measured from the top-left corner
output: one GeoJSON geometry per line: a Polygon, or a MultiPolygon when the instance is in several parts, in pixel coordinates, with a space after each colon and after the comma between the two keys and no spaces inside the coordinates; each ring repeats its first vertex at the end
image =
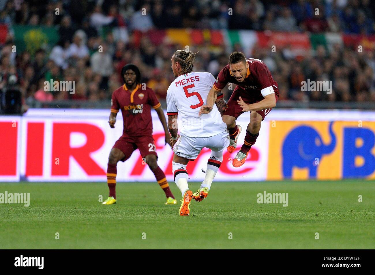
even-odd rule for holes
{"type": "Polygon", "coordinates": [[[141,42],[141,37],[147,36],[150,41],[159,45],[162,42],[194,47],[208,43],[212,47],[226,46],[233,50],[239,45],[246,55],[252,54],[255,45],[261,48],[276,49],[288,48],[296,56],[303,56],[309,49],[316,49],[323,45],[328,50],[333,49],[334,44],[363,49],[375,49],[375,36],[362,36],[357,34],[339,33],[283,33],[278,31],[252,31],[252,30],[194,30],[194,29],[166,29],[152,30],[147,33],[135,32],[136,45],[141,42]]]}

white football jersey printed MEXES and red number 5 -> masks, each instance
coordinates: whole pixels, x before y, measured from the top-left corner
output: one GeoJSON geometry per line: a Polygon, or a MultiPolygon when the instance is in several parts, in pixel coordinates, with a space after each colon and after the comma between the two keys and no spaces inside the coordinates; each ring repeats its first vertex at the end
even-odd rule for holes
{"type": "Polygon", "coordinates": [[[215,78],[206,72],[191,72],[178,76],[166,94],[168,115],[178,114],[178,128],[187,137],[212,137],[226,130],[216,104],[208,114],[198,116],[215,78]]]}

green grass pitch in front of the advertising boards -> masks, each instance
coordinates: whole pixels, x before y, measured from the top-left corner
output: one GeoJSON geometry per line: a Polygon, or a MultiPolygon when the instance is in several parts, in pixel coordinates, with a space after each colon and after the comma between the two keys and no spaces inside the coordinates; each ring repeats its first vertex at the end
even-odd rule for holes
{"type": "MultiPolygon", "coordinates": [[[[373,249],[374,183],[214,182],[207,199],[191,203],[188,217],[178,216],[180,202],[164,205],[157,183],[118,183],[118,202],[109,206],[98,201],[107,198],[106,183],[1,183],[0,193],[30,193],[30,206],[0,204],[0,249],[373,249]],[[258,204],[264,190],[288,193],[289,205],[258,204]]],[[[189,186],[195,192],[199,183],[189,186]]]]}

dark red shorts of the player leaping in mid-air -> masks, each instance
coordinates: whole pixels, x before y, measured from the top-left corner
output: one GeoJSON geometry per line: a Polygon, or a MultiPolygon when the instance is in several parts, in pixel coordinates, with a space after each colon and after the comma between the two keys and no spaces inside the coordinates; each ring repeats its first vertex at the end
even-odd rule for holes
{"type": "MultiPolygon", "coordinates": [[[[276,89],[275,89],[275,91],[276,91],[276,89]]],[[[239,117],[240,114],[244,113],[242,111],[241,106],[237,103],[237,100],[239,100],[239,97],[241,97],[242,100],[246,104],[257,103],[257,102],[263,100],[263,97],[254,98],[254,97],[249,96],[249,92],[245,91],[244,89],[238,88],[238,86],[237,86],[236,89],[234,89],[233,94],[229,98],[228,103],[227,103],[228,108],[225,110],[225,112],[223,114],[226,114],[227,116],[234,116],[237,119],[237,117],[239,117]]],[[[278,102],[279,97],[276,94],[275,94],[275,97],[276,97],[276,102],[278,102]]],[[[266,117],[267,114],[269,114],[271,110],[272,110],[272,108],[264,109],[264,110],[257,111],[257,113],[262,116],[262,121],[263,121],[264,117],[266,117]]]]}

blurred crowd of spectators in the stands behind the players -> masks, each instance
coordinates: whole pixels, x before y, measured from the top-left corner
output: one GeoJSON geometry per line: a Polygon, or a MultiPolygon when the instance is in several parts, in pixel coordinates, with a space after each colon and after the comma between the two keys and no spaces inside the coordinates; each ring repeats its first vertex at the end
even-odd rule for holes
{"type": "MultiPolygon", "coordinates": [[[[0,0],[0,25],[10,30],[1,44],[0,89],[9,85],[11,74],[26,103],[52,100],[98,101],[111,98],[121,83],[120,71],[127,63],[139,66],[142,82],[160,100],[174,80],[170,58],[185,45],[168,40],[155,45],[139,33],[164,28],[244,29],[284,32],[333,32],[372,36],[375,33],[374,3],[370,0],[105,0],[48,1],[0,0]],[[233,8],[233,15],[228,12],[233,8]],[[316,15],[315,8],[319,9],[316,15]],[[56,15],[56,9],[59,14],[56,15]],[[145,13],[145,14],[144,14],[145,13]],[[59,40],[51,48],[12,51],[14,25],[53,27],[59,40]],[[118,28],[117,35],[106,31],[118,28]],[[138,42],[135,40],[138,39],[138,42]],[[102,46],[102,52],[98,51],[102,46]],[[75,93],[45,92],[44,81],[75,81],[75,93]]],[[[374,45],[374,44],[373,44],[374,45]]],[[[215,77],[236,49],[247,57],[262,59],[280,86],[279,100],[375,101],[375,47],[359,52],[335,44],[328,51],[318,45],[303,58],[288,47],[260,47],[251,51],[241,45],[228,48],[209,43],[189,45],[196,54],[195,71],[215,77]],[[332,80],[333,93],[301,90],[301,82],[332,80]]],[[[228,90],[224,91],[227,98],[228,90]]]]}

